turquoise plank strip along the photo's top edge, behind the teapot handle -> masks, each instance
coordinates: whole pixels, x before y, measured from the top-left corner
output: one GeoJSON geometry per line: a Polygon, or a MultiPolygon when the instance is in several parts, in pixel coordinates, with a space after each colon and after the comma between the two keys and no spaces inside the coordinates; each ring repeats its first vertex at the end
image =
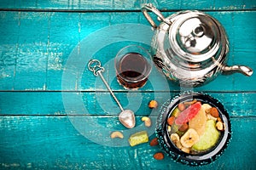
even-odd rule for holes
{"type": "Polygon", "coordinates": [[[28,1],[28,0],[9,0],[1,1],[1,8],[15,8],[15,9],[65,9],[65,10],[138,10],[141,3],[154,3],[161,9],[188,9],[200,8],[205,10],[242,10],[254,9],[255,2],[251,0],[244,1],[221,1],[221,0],[183,0],[183,1],[168,1],[168,0],[140,0],[140,1],[119,1],[119,0],[104,0],[104,1],[90,1],[90,0],[60,0],[60,1],[28,1]]]}

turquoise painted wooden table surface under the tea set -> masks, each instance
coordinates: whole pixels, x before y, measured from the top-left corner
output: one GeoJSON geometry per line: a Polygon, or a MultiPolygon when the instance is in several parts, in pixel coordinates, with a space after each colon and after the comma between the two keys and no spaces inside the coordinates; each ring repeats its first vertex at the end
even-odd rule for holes
{"type": "MultiPolygon", "coordinates": [[[[229,65],[256,71],[256,3],[244,1],[152,1],[165,16],[200,9],[218,19],[230,39],[229,65]]],[[[148,47],[153,31],[140,1],[4,1],[0,3],[0,168],[32,169],[186,169],[159,147],[128,145],[129,134],[147,130],[153,139],[159,105],[183,91],[152,71],[146,86],[122,88],[113,70],[120,48],[148,47]],[[149,29],[148,29],[149,28],[149,29]],[[145,30],[143,30],[145,29],[145,30]],[[151,37],[150,37],[151,36],[151,37]],[[87,69],[100,59],[103,76],[125,108],[136,111],[137,127],[125,130],[119,108],[99,77],[87,69]],[[142,116],[152,118],[144,127],[142,116]],[[110,139],[123,130],[124,139],[110,139]]],[[[255,169],[256,74],[218,76],[192,90],[216,97],[230,113],[232,139],[214,163],[196,169],[255,169]]]]}

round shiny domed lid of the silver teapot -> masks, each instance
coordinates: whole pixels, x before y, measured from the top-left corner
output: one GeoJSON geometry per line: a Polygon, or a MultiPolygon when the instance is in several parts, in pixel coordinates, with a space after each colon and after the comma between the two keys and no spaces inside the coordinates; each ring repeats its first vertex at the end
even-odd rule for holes
{"type": "Polygon", "coordinates": [[[211,16],[198,11],[177,14],[169,30],[173,51],[190,62],[201,62],[211,57],[218,58],[227,41],[224,29],[211,16]],[[225,39],[224,39],[225,40],[225,39]]]}

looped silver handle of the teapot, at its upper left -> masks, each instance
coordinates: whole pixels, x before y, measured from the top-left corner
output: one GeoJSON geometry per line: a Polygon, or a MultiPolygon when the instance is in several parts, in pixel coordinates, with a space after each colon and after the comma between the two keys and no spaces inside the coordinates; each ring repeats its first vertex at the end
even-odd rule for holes
{"type": "Polygon", "coordinates": [[[161,12],[154,7],[154,5],[152,3],[144,3],[142,6],[142,11],[143,14],[145,16],[145,18],[148,20],[149,24],[153,27],[153,28],[157,28],[156,24],[154,23],[154,20],[151,18],[151,16],[148,14],[148,11],[152,11],[154,14],[156,14],[158,16],[159,20],[163,20],[164,22],[166,22],[166,24],[168,25],[172,25],[172,22],[170,20],[167,20],[163,14],[161,14],[161,12]]]}

